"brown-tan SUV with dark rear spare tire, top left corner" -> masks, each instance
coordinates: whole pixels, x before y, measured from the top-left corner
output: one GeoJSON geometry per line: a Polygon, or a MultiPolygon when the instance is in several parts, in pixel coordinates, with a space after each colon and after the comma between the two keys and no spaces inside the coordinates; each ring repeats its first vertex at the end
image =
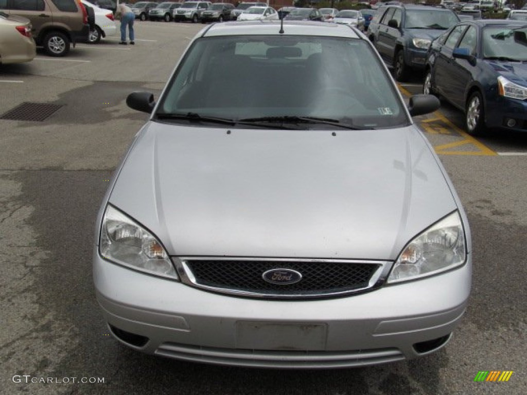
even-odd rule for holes
{"type": "Polygon", "coordinates": [[[37,46],[51,56],[64,56],[90,33],[88,13],[80,0],[0,0],[0,11],[30,19],[37,46]]]}

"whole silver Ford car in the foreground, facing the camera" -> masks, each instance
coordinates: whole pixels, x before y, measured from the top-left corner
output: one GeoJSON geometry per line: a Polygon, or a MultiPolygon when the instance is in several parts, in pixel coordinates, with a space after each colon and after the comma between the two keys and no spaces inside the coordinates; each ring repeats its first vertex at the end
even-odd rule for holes
{"type": "Polygon", "coordinates": [[[356,28],[204,28],[116,170],[94,283],[116,339],[188,361],[338,368],[443,347],[465,311],[461,202],[356,28]]]}

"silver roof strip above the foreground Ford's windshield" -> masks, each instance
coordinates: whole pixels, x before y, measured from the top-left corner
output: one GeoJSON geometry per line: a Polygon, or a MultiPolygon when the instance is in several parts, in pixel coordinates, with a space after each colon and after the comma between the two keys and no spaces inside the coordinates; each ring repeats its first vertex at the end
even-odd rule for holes
{"type": "MultiPolygon", "coordinates": [[[[283,21],[284,35],[327,36],[360,38],[356,31],[345,25],[327,22],[283,21]]],[[[223,22],[212,24],[202,31],[202,37],[235,35],[280,35],[280,21],[223,22]]]]}

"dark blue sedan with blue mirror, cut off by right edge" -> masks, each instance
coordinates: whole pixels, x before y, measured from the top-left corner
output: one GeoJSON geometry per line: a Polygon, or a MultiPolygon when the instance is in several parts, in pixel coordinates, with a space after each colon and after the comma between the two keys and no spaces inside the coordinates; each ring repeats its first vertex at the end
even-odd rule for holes
{"type": "Polygon", "coordinates": [[[481,19],[448,29],[428,51],[423,92],[463,110],[471,135],[527,132],[527,23],[481,19]]]}

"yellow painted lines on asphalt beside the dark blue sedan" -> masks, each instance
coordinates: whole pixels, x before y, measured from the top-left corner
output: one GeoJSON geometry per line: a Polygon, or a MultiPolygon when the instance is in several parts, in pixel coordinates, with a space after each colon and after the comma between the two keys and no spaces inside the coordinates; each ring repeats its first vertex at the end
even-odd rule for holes
{"type": "MultiPolygon", "coordinates": [[[[403,95],[405,95],[407,97],[412,96],[412,94],[410,92],[408,92],[401,85],[399,85],[399,89],[401,90],[403,95]]],[[[480,143],[479,141],[477,141],[476,139],[474,139],[474,137],[472,137],[470,134],[468,134],[465,131],[463,131],[460,128],[458,128],[456,125],[454,125],[452,122],[450,122],[450,120],[448,120],[448,118],[446,116],[444,116],[443,113],[441,113],[440,111],[435,111],[433,113],[433,115],[435,116],[435,118],[427,118],[426,120],[422,121],[422,124],[425,124],[425,125],[423,125],[424,129],[428,133],[430,133],[430,134],[450,134],[450,132],[448,132],[448,130],[450,129],[450,130],[455,131],[458,135],[460,135],[461,137],[464,137],[464,139],[465,139],[465,140],[458,141],[458,142],[455,142],[455,143],[449,143],[449,144],[443,144],[443,145],[435,146],[434,150],[435,150],[435,152],[437,154],[440,154],[440,155],[497,156],[496,152],[492,151],[489,147],[487,147],[486,145],[484,145],[484,144],[480,143]],[[443,127],[441,125],[436,125],[436,126],[426,125],[426,124],[430,124],[430,123],[438,122],[438,121],[443,123],[444,125],[446,125],[448,127],[448,129],[446,129],[445,127],[443,127]],[[458,147],[458,146],[465,145],[465,144],[472,144],[475,147],[477,147],[477,149],[479,151],[447,151],[447,150],[449,150],[451,148],[458,147]]]]}

